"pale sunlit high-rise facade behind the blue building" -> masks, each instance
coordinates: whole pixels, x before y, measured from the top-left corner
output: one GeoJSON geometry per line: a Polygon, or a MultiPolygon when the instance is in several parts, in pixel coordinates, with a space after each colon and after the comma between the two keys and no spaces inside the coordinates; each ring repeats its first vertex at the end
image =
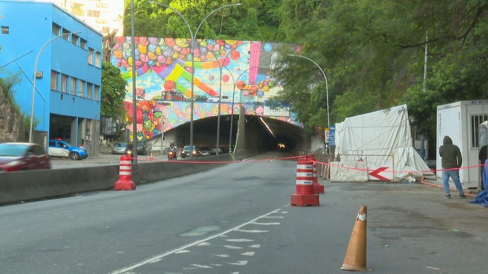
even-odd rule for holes
{"type": "Polygon", "coordinates": [[[54,2],[67,12],[101,32],[103,35],[117,30],[123,32],[123,0],[36,0],[54,2]]]}

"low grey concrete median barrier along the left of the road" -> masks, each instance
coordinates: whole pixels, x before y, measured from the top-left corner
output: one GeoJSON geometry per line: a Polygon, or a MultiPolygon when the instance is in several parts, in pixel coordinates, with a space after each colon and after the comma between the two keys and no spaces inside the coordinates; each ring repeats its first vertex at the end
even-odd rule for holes
{"type": "MultiPolygon", "coordinates": [[[[246,155],[248,157],[252,155],[246,155]]],[[[192,161],[229,161],[229,154],[196,158],[192,161]]],[[[133,181],[149,183],[206,171],[225,164],[139,162],[133,181]]],[[[100,167],[33,170],[0,173],[0,204],[37,200],[76,193],[108,190],[119,180],[119,165],[100,167]]]]}

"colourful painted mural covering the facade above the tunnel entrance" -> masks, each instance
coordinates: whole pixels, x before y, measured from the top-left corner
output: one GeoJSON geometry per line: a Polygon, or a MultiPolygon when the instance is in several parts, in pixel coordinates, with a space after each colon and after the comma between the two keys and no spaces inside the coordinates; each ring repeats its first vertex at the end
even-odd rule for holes
{"type": "MultiPolygon", "coordinates": [[[[112,63],[122,71],[129,84],[125,94],[125,121],[132,130],[132,62],[136,66],[137,139],[151,138],[190,121],[191,39],[117,37],[112,63]],[[165,117],[163,124],[162,118],[165,117]]],[[[203,119],[218,115],[219,85],[222,81],[221,114],[234,114],[244,105],[246,115],[267,116],[297,126],[296,115],[289,111],[266,115],[266,102],[281,90],[273,77],[278,57],[277,43],[230,40],[197,40],[194,58],[194,115],[203,119]],[[225,67],[220,78],[219,65],[225,67]],[[227,68],[227,69],[226,69],[227,68]],[[215,98],[216,97],[216,98],[215,98]]],[[[300,51],[299,47],[295,48],[300,51]]]]}

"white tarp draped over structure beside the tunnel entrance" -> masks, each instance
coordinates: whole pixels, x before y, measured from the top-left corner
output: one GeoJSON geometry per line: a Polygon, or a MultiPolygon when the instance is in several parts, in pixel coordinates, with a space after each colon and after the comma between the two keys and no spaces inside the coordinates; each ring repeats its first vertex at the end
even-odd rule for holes
{"type": "Polygon", "coordinates": [[[430,170],[413,147],[407,105],[349,117],[336,124],[335,154],[340,154],[341,162],[366,161],[368,169],[393,168],[394,181],[413,182],[413,176],[422,176],[417,171],[430,170]]]}

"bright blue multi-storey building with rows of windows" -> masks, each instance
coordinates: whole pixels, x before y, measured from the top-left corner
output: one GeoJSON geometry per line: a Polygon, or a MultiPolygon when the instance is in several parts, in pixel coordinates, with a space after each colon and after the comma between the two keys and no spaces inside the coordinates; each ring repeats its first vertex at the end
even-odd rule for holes
{"type": "MultiPolygon", "coordinates": [[[[35,130],[95,149],[98,143],[102,35],[53,3],[0,0],[0,77],[18,73],[15,99],[31,113],[37,64],[35,130]],[[78,32],[73,34],[73,32],[78,32]]],[[[28,130],[28,129],[27,129],[28,130]]]]}

